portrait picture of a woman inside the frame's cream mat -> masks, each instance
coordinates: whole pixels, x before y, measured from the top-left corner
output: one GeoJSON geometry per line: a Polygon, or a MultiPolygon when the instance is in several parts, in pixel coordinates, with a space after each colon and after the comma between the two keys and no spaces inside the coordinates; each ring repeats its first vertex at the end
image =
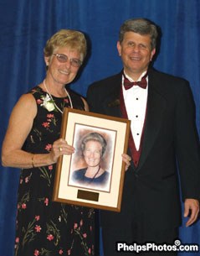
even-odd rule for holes
{"type": "Polygon", "coordinates": [[[75,129],[69,185],[110,191],[115,131],[75,129]]]}

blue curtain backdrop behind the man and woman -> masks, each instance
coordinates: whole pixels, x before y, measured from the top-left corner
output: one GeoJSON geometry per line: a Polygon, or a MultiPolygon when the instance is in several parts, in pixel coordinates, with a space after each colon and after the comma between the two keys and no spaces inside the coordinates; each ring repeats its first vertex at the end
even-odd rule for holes
{"type": "MultiPolygon", "coordinates": [[[[0,144],[18,97],[44,78],[43,48],[52,34],[69,28],[88,35],[90,58],[72,84],[85,96],[91,82],[121,71],[115,47],[118,31],[124,20],[136,17],[160,25],[161,49],[154,66],[190,81],[200,132],[198,0],[0,0],[0,144]]],[[[0,256],[13,255],[18,177],[19,170],[0,166],[0,256]]],[[[199,222],[187,228],[184,224],[185,220],[180,227],[182,243],[200,244],[199,222]]],[[[194,254],[200,255],[187,253],[194,254]]]]}

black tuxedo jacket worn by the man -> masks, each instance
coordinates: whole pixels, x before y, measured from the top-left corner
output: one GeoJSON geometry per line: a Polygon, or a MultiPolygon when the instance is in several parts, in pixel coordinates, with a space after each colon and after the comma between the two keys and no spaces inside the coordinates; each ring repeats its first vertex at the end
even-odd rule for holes
{"type": "MultiPolygon", "coordinates": [[[[91,112],[121,117],[121,75],[89,86],[91,112]]],[[[199,199],[200,153],[192,92],[188,81],[150,69],[139,165],[131,163],[126,171],[121,213],[103,212],[102,225],[137,216],[146,227],[178,227],[179,177],[182,199],[199,199]]]]}

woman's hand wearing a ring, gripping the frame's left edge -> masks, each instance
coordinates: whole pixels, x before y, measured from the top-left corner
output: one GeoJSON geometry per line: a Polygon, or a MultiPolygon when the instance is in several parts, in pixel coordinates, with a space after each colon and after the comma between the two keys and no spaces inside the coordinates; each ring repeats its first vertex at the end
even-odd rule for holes
{"type": "Polygon", "coordinates": [[[73,154],[74,153],[74,147],[70,146],[64,138],[59,138],[56,141],[54,141],[54,144],[52,146],[51,152],[49,153],[50,159],[56,163],[59,156],[63,154],[73,154]]]}

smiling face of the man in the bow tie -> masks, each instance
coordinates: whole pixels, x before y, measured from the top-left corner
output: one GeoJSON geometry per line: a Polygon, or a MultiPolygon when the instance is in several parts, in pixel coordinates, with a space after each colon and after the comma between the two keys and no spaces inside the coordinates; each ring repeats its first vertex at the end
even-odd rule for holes
{"type": "Polygon", "coordinates": [[[125,33],[123,41],[117,42],[117,50],[126,74],[134,80],[137,80],[141,73],[147,70],[156,52],[155,49],[151,50],[150,35],[134,32],[125,33]]]}

